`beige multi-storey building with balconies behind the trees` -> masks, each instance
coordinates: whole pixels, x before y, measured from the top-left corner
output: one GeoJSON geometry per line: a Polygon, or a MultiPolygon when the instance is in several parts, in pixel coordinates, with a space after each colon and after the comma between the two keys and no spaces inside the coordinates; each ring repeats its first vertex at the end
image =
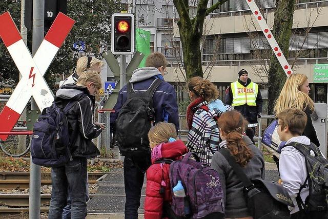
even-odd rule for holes
{"type": "MultiPolygon", "coordinates": [[[[215,4],[217,0],[209,2],[215,4]]],[[[297,0],[290,39],[289,64],[295,73],[306,74],[315,102],[327,103],[328,83],[328,1],[297,0]]],[[[274,22],[274,0],[257,0],[269,27],[274,22]]],[[[192,4],[192,3],[191,3],[192,4]]],[[[209,6],[210,6],[209,5],[209,6]]],[[[196,12],[191,5],[190,16],[196,12]]],[[[166,81],[174,84],[178,100],[187,98],[179,65],[183,60],[176,22],[178,14],[170,1],[136,1],[132,9],[137,27],[151,32],[151,50],[166,55],[170,65],[166,81]]],[[[210,81],[220,90],[238,79],[238,71],[246,69],[252,81],[259,83],[263,98],[267,98],[265,69],[270,62],[270,46],[253,19],[245,0],[228,0],[207,16],[204,25],[206,40],[202,44],[202,64],[210,81]],[[211,71],[210,71],[211,70],[211,71]]]]}

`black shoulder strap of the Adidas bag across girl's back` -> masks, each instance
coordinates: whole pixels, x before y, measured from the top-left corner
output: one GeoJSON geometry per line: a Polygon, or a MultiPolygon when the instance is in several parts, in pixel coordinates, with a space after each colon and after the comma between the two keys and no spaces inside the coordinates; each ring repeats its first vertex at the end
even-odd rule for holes
{"type": "Polygon", "coordinates": [[[226,158],[229,165],[234,170],[235,174],[238,176],[239,180],[244,185],[246,191],[250,191],[254,188],[254,184],[250,181],[249,177],[241,169],[240,165],[236,162],[235,157],[233,157],[227,148],[222,148],[219,152],[226,158]]]}

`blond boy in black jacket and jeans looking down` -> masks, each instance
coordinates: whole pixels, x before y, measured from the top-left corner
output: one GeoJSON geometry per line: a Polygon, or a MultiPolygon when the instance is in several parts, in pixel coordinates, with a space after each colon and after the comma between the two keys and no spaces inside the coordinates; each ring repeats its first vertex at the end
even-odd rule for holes
{"type": "Polygon", "coordinates": [[[87,158],[100,154],[92,139],[105,128],[93,120],[94,95],[100,88],[98,72],[85,71],[79,76],[76,85],[64,85],[56,93],[55,104],[59,108],[64,108],[71,101],[76,102],[66,114],[73,160],[64,167],[52,168],[49,218],[61,218],[68,195],[71,199],[72,218],[87,216],[87,158]]]}

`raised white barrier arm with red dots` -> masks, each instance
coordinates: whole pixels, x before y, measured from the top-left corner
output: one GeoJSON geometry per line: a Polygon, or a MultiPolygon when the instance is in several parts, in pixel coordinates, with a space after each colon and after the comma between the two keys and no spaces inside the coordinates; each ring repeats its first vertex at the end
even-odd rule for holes
{"type": "Polygon", "coordinates": [[[265,22],[260,10],[258,9],[255,0],[245,0],[248,4],[248,6],[250,7],[253,15],[255,16],[255,19],[257,21],[257,23],[259,24],[260,28],[262,29],[262,32],[265,36],[265,38],[267,38],[273,52],[275,53],[283,71],[285,72],[285,74],[287,76],[289,76],[290,74],[293,74],[293,70],[291,68],[291,66],[288,64],[286,57],[283,55],[275,37],[272,35],[271,30],[267,24],[267,22],[265,22]]]}

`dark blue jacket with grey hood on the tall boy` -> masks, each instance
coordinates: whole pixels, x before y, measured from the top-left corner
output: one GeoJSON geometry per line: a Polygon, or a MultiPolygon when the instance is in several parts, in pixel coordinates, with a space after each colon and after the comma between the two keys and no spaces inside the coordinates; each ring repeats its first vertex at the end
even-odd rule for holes
{"type": "MultiPolygon", "coordinates": [[[[160,72],[156,68],[139,68],[133,72],[130,83],[133,83],[133,89],[135,92],[144,92],[150,87],[155,78],[163,80],[160,72]]],[[[112,127],[121,107],[127,99],[127,86],[124,86],[119,91],[117,102],[114,106],[115,112],[111,113],[110,122],[112,127]]],[[[173,123],[176,130],[178,130],[178,105],[176,101],[176,93],[172,85],[163,81],[157,87],[153,96],[153,107],[155,109],[155,122],[173,123]]]]}

